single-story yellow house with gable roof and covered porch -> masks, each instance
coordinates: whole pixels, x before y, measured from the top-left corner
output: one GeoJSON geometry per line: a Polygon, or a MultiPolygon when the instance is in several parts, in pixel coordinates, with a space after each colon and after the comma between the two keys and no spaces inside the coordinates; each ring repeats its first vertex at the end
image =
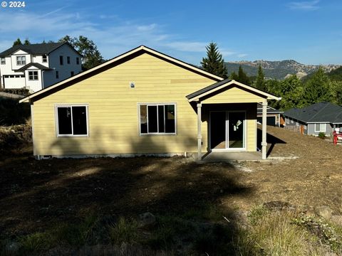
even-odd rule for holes
{"type": "Polygon", "coordinates": [[[43,157],[257,151],[257,103],[278,97],[139,46],[20,102],[43,157]]]}

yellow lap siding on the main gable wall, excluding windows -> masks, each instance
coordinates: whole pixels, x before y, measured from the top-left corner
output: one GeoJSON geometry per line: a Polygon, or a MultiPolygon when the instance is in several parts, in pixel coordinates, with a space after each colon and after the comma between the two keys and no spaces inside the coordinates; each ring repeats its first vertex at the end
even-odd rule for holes
{"type": "Polygon", "coordinates": [[[197,114],[185,96],[213,82],[160,58],[140,55],[34,102],[36,154],[195,152],[197,114]],[[138,103],[154,102],[176,104],[176,135],[139,134],[138,103]],[[88,105],[89,137],[56,137],[59,104],[88,105]]]}

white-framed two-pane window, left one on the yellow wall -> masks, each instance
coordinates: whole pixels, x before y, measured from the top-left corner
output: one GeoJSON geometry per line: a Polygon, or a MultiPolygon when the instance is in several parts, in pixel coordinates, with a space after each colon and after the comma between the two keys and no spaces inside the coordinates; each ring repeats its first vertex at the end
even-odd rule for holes
{"type": "Polygon", "coordinates": [[[88,136],[88,106],[56,106],[57,136],[88,136]]]}

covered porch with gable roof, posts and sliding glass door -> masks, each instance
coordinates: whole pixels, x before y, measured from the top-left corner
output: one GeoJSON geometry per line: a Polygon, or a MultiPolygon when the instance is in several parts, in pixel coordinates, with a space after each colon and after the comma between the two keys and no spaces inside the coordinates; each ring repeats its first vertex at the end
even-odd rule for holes
{"type": "Polygon", "coordinates": [[[244,85],[222,80],[187,95],[197,112],[197,160],[266,159],[267,100],[279,97],[244,85]],[[257,104],[262,105],[261,154],[257,152],[257,104]]]}

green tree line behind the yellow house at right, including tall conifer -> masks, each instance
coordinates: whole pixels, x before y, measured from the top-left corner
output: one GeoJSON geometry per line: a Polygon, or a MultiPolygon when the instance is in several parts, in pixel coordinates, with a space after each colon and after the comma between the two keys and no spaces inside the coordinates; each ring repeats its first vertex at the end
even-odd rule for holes
{"type": "MultiPolygon", "coordinates": [[[[227,74],[222,54],[219,53],[216,43],[209,43],[206,47],[207,56],[202,59],[202,68],[221,78],[230,78],[252,85],[259,90],[269,92],[281,97],[280,101],[270,102],[272,107],[279,110],[289,110],[293,107],[306,107],[318,102],[331,102],[342,106],[342,70],[334,70],[331,78],[322,67],[308,79],[301,80],[296,75],[291,75],[284,80],[266,79],[264,71],[259,65],[257,77],[250,78],[241,66],[238,73],[227,74]]],[[[342,68],[341,68],[342,69],[342,68]]]]}

